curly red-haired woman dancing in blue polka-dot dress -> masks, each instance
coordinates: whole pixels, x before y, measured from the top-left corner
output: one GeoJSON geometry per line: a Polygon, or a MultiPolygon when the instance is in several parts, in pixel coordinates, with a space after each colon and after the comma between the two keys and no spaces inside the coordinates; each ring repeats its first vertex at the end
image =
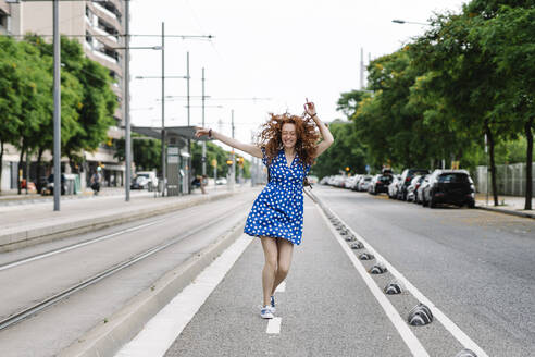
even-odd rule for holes
{"type": "Polygon", "coordinates": [[[318,118],[315,106],[307,100],[303,115],[270,114],[257,145],[244,144],[211,128],[197,128],[196,136],[208,135],[224,144],[262,158],[269,182],[249,212],[244,232],[260,237],[264,253],[262,270],[263,304],[260,316],[272,319],[274,293],[288,274],[294,245],[301,243],[303,180],[315,158],[334,138],[318,118]],[[323,140],[318,143],[320,131],[323,140]]]}

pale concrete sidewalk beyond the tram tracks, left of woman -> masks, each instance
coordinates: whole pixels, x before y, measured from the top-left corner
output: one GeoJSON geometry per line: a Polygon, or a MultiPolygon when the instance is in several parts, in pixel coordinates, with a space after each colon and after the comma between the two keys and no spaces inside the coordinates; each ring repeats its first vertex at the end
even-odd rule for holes
{"type": "Polygon", "coordinates": [[[167,213],[239,194],[250,187],[237,186],[234,192],[217,187],[201,195],[154,197],[153,193],[132,195],[89,196],[87,199],[61,201],[61,210],[53,211],[52,201],[0,207],[0,251],[32,246],[67,235],[95,231],[128,221],[167,213]]]}

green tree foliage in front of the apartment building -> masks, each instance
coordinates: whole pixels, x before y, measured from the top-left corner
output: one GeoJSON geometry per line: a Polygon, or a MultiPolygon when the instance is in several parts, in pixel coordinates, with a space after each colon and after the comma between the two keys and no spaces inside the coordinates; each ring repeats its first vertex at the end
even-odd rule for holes
{"type": "MultiPolygon", "coordinates": [[[[61,50],[61,148],[73,160],[107,139],[117,103],[108,70],[87,59],[77,40],[63,37],[61,50]]],[[[45,150],[52,151],[52,53],[36,35],[0,37],[0,160],[4,143],[18,148],[21,164],[32,152],[39,163],[45,150]]]]}

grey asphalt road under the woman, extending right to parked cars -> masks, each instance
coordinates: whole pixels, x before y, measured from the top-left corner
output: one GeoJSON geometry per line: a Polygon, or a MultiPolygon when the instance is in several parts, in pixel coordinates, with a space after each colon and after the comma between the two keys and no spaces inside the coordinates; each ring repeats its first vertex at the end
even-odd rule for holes
{"type": "MultiPolygon", "coordinates": [[[[252,238],[166,356],[415,356],[408,334],[422,356],[455,356],[462,338],[488,356],[535,355],[533,220],[432,210],[331,187],[313,192],[444,317],[400,332],[351,263],[357,250],[343,249],[346,243],[306,199],[303,243],[295,248],[285,292],[276,294],[279,332],[266,333],[269,322],[259,316],[263,255],[252,238]]],[[[390,279],[374,275],[373,282],[382,288],[390,279]]],[[[403,323],[419,303],[409,291],[387,300],[403,323]]]]}

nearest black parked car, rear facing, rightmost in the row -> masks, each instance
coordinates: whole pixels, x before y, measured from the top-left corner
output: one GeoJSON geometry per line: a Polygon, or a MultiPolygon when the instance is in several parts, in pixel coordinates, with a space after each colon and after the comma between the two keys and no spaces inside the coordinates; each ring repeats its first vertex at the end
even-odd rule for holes
{"type": "Polygon", "coordinates": [[[428,186],[423,189],[422,200],[431,208],[438,204],[474,208],[474,182],[466,170],[435,170],[430,175],[428,186]]]}

